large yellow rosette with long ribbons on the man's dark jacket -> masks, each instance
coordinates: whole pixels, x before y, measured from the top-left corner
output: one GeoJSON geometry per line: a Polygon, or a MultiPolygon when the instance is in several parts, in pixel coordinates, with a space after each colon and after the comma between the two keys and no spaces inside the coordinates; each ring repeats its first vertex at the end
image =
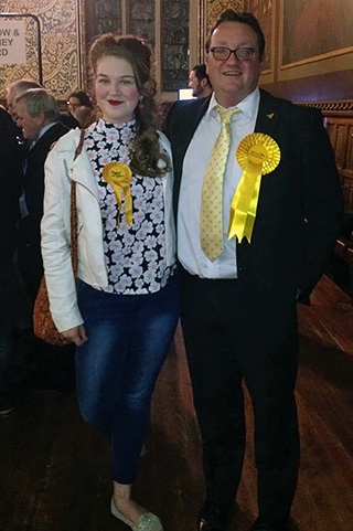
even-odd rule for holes
{"type": "Polygon", "coordinates": [[[250,243],[261,176],[277,168],[280,149],[268,135],[253,132],[240,141],[236,159],[243,170],[243,176],[231,205],[228,240],[236,236],[240,243],[243,237],[246,237],[250,243]]]}

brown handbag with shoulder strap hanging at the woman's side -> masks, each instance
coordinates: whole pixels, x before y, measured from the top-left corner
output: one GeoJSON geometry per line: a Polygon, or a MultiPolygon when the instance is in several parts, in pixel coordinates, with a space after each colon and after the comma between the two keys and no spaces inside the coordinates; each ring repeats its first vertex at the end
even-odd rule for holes
{"type": "MultiPolygon", "coordinates": [[[[81,153],[84,142],[85,131],[81,134],[79,144],[75,151],[75,158],[81,153]]],[[[77,208],[76,208],[76,183],[71,183],[71,257],[73,270],[77,275],[77,208]]],[[[64,347],[69,341],[65,339],[54,325],[50,310],[49,295],[46,289],[45,277],[43,276],[33,307],[33,332],[46,343],[56,347],[64,347]]]]}

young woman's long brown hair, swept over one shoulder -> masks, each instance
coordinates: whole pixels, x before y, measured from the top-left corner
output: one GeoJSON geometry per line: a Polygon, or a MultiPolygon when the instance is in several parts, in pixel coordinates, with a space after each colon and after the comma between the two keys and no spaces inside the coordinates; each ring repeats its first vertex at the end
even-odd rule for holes
{"type": "Polygon", "coordinates": [[[159,177],[170,168],[168,156],[161,152],[157,131],[156,82],[152,78],[152,52],[138,36],[119,36],[106,33],[90,46],[89,61],[96,75],[101,57],[115,56],[127,61],[133,71],[135,81],[141,95],[140,105],[135,109],[137,136],[130,147],[130,167],[140,176],[159,177]],[[159,161],[164,164],[160,167],[159,161]]]}

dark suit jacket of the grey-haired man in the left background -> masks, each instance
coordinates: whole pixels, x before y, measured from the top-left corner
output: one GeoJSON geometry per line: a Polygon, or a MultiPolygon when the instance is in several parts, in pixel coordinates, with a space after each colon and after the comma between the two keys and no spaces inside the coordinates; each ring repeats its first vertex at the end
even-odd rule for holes
{"type": "Polygon", "coordinates": [[[29,215],[19,224],[19,268],[33,298],[43,276],[41,220],[44,199],[44,162],[51,146],[69,129],[57,123],[26,153],[23,190],[29,215]]]}

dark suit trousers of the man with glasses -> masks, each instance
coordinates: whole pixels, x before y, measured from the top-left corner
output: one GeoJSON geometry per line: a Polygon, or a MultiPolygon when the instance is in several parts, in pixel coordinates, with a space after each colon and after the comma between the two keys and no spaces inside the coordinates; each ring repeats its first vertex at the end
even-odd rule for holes
{"type": "Polygon", "coordinates": [[[270,312],[260,319],[266,302],[252,305],[239,280],[201,279],[186,272],[181,276],[182,328],[203,440],[206,512],[226,520],[235,501],[245,453],[245,384],[254,410],[259,517],[280,525],[289,518],[299,467],[296,306],[290,327],[279,334],[270,331],[270,312]]]}

